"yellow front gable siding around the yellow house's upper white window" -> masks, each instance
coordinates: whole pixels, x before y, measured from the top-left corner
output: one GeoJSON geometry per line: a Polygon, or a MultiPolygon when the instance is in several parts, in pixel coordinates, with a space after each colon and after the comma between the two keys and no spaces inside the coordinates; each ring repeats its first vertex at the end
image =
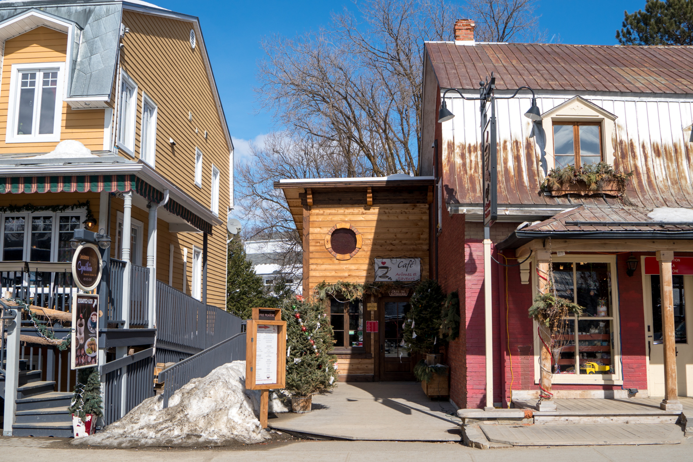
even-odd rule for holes
{"type": "MultiPolygon", "coordinates": [[[[37,27],[5,42],[0,83],[0,154],[46,153],[58,142],[5,143],[12,65],[31,62],[65,62],[67,34],[37,27]]],[[[67,79],[63,76],[63,85],[67,79]]],[[[62,89],[60,97],[62,98],[62,89]]],[[[77,139],[92,150],[103,149],[104,110],[72,110],[62,103],[60,139],[77,139]]]]}

